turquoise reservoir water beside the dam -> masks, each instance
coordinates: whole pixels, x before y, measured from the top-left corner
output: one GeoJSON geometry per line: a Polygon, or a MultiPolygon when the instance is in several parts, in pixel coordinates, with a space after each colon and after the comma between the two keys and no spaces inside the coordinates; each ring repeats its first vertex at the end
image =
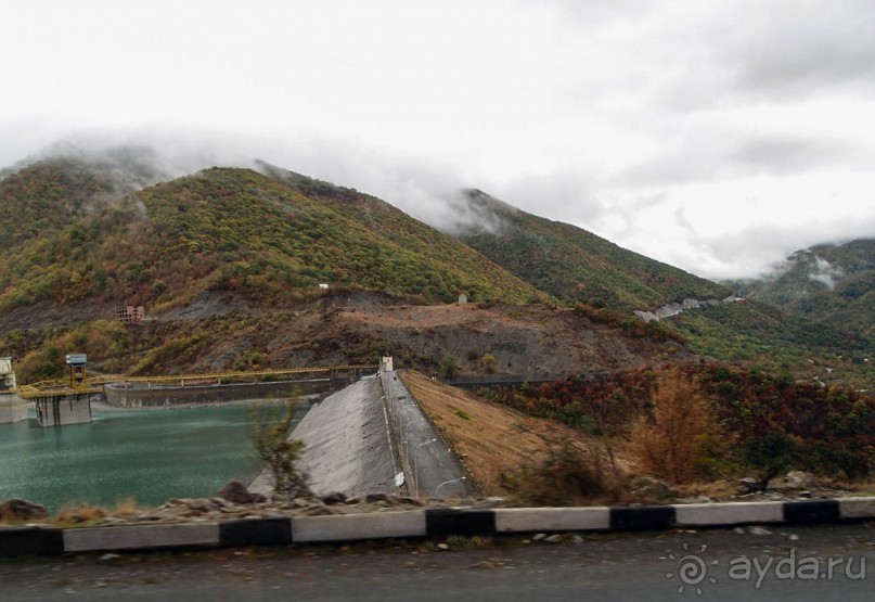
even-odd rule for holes
{"type": "MultiPolygon", "coordinates": [[[[305,405],[301,405],[305,406],[305,405]]],[[[0,500],[141,507],[210,497],[261,470],[246,406],[98,412],[90,424],[0,424],[0,500]]]]}

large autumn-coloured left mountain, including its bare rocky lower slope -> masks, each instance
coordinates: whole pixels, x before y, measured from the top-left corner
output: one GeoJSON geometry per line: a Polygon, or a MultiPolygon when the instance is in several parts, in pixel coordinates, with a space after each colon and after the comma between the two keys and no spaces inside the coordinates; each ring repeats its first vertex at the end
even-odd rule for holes
{"type": "Polygon", "coordinates": [[[60,377],[73,351],[95,372],[132,374],[386,353],[430,372],[451,355],[469,373],[694,359],[656,326],[557,307],[374,196],[256,168],[137,187],[124,169],[65,157],[0,180],[0,355],[16,358],[22,382],[60,377]],[[456,304],[460,293],[475,303],[456,304]],[[117,305],[145,306],[146,320],[114,321],[117,305]]]}

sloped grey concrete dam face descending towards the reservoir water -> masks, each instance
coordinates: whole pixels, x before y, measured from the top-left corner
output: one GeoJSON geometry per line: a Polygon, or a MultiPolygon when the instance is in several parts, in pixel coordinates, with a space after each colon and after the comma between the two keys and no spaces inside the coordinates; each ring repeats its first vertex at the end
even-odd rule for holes
{"type": "Polygon", "coordinates": [[[398,492],[382,397],[378,381],[360,381],[314,406],[295,428],[314,494],[398,492]]]}

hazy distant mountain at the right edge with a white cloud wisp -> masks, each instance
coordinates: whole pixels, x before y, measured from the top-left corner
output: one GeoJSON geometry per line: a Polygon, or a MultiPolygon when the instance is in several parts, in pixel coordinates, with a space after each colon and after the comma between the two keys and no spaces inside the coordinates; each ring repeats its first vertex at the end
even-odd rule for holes
{"type": "Polygon", "coordinates": [[[751,299],[875,340],[875,239],[798,251],[774,274],[726,284],[751,299]]]}

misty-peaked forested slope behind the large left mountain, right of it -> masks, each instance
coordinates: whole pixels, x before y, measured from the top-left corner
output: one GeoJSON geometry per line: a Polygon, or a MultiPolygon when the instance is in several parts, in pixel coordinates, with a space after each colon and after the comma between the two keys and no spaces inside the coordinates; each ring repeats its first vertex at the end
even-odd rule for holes
{"type": "Polygon", "coordinates": [[[462,210],[479,226],[464,226],[460,240],[568,303],[632,311],[686,297],[709,299],[730,294],[711,281],[575,226],[516,209],[478,190],[464,191],[462,210]]]}

